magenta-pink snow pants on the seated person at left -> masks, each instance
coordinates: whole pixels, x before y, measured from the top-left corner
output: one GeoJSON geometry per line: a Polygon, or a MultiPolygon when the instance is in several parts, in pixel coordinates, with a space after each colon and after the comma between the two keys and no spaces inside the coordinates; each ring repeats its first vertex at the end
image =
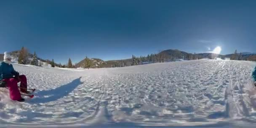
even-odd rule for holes
{"type": "Polygon", "coordinates": [[[9,88],[9,93],[10,93],[10,98],[14,101],[20,100],[21,99],[21,93],[19,92],[18,88],[18,83],[20,83],[21,88],[26,88],[26,89],[21,89],[21,92],[27,92],[27,78],[25,75],[20,75],[19,76],[20,80],[16,80],[15,78],[9,78],[9,79],[4,79],[7,83],[7,86],[9,88]]]}

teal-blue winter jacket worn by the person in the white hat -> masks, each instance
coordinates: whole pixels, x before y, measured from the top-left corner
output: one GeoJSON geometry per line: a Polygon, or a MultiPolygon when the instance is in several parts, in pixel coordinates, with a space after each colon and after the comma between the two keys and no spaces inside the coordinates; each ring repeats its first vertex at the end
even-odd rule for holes
{"type": "Polygon", "coordinates": [[[14,75],[18,75],[19,72],[16,72],[13,69],[12,64],[7,64],[5,62],[0,63],[0,80],[6,79],[6,78],[12,78],[14,75]]]}

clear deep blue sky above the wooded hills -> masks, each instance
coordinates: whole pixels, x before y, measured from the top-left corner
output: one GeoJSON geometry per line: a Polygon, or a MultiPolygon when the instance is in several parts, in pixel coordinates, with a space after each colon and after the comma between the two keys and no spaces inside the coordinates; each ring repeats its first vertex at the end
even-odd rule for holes
{"type": "Polygon", "coordinates": [[[165,49],[256,52],[255,0],[1,0],[0,53],[62,64],[165,49]]]}

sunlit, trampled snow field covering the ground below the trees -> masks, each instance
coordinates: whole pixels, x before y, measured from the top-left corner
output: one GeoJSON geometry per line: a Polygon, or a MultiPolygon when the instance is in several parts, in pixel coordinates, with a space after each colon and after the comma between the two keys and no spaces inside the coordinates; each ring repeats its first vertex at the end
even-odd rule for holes
{"type": "Polygon", "coordinates": [[[250,61],[89,70],[13,65],[37,91],[20,103],[0,88],[0,127],[245,128],[256,123],[250,61]]]}

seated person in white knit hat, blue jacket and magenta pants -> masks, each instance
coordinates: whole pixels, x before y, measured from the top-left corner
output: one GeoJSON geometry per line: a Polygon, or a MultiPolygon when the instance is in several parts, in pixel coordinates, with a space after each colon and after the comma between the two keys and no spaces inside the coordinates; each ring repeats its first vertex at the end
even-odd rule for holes
{"type": "Polygon", "coordinates": [[[28,93],[26,76],[19,75],[19,72],[16,72],[13,69],[13,65],[11,64],[11,56],[5,52],[4,61],[0,63],[0,86],[9,88],[10,98],[12,100],[23,102],[24,99],[21,97],[21,93],[18,88],[19,82],[21,82],[20,91],[23,93],[28,93]]]}

